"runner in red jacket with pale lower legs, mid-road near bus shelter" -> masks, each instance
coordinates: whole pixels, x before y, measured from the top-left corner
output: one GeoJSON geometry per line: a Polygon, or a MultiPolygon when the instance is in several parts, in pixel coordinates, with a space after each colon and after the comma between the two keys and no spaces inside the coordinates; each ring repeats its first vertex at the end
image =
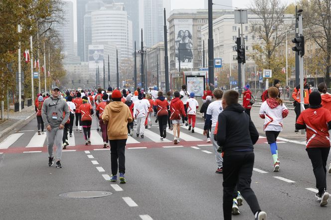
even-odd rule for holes
{"type": "Polygon", "coordinates": [[[175,91],[173,93],[174,98],[170,102],[170,119],[172,120],[172,126],[173,126],[173,143],[177,144],[180,142],[180,120],[181,117],[185,117],[185,109],[183,103],[180,101],[179,97],[180,94],[178,91],[175,91]],[[176,135],[177,133],[177,135],[176,135]]]}

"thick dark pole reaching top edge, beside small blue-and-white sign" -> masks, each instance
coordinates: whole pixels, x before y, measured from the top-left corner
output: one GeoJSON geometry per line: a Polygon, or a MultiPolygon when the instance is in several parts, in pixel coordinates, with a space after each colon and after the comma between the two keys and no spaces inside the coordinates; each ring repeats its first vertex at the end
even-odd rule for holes
{"type": "Polygon", "coordinates": [[[214,39],[213,39],[213,2],[208,0],[208,79],[210,90],[214,90],[214,39]]]}

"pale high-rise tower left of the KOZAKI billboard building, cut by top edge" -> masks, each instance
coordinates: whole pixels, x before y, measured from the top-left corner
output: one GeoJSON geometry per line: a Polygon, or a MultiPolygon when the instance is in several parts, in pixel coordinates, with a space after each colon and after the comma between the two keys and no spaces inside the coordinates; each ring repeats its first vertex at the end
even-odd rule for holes
{"type": "Polygon", "coordinates": [[[152,45],[164,40],[163,0],[144,0],[144,45],[152,45]]]}

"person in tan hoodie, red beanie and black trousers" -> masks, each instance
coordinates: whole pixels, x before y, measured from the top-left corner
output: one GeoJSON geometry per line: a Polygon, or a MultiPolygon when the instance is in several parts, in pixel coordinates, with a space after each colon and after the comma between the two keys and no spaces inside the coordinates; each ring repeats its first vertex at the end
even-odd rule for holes
{"type": "Polygon", "coordinates": [[[122,94],[114,90],[112,100],[103,112],[102,120],[107,125],[107,135],[110,143],[112,176],[110,181],[117,181],[117,170],[120,172],[120,183],[126,183],[125,174],[125,145],[128,139],[128,122],[132,122],[132,114],[127,105],[121,102],[122,94]]]}

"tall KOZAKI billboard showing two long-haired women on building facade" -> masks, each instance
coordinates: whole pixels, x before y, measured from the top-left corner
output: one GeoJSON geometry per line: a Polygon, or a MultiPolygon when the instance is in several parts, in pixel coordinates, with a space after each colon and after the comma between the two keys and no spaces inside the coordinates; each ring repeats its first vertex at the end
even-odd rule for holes
{"type": "Polygon", "coordinates": [[[175,32],[175,63],[176,68],[193,68],[193,19],[173,19],[175,32]]]}

